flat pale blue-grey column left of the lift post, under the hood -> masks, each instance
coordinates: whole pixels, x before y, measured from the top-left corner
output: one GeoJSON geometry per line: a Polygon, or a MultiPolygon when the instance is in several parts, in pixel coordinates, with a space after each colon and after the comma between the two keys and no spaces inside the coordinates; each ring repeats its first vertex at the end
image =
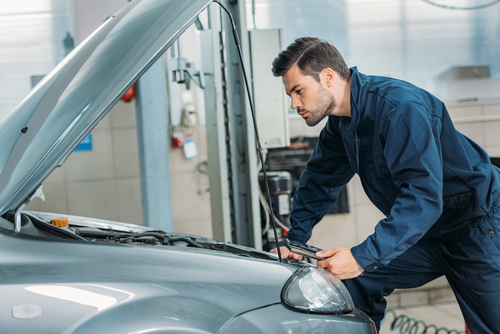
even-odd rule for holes
{"type": "Polygon", "coordinates": [[[167,86],[163,57],[137,84],[136,118],[144,225],[172,232],[167,86]]]}

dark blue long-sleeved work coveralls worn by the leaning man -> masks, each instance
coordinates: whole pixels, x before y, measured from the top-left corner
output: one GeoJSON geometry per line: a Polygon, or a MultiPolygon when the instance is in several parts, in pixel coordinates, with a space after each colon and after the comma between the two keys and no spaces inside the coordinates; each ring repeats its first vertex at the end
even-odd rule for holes
{"type": "MultiPolygon", "coordinates": [[[[500,170],[436,97],[351,68],[351,117],[329,116],[297,187],[288,238],[307,242],[356,173],[387,218],[344,280],[380,328],[385,296],[445,275],[472,333],[500,333],[500,170]]],[[[334,245],[332,245],[334,246],[334,245]]]]}

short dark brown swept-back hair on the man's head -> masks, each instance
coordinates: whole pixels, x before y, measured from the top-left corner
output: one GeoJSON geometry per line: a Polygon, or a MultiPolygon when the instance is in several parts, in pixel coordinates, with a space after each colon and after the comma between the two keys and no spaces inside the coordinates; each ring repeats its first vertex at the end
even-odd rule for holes
{"type": "Polygon", "coordinates": [[[281,77],[297,64],[305,75],[312,76],[316,81],[319,74],[329,67],[346,81],[351,73],[339,50],[330,43],[314,37],[297,38],[286,50],[281,51],[273,60],[273,75],[281,77]]]}

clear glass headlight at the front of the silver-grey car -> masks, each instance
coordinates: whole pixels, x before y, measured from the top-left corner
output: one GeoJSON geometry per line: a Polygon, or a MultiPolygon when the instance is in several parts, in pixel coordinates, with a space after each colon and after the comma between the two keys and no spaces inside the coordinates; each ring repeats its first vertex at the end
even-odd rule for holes
{"type": "Polygon", "coordinates": [[[303,312],[338,314],[354,310],[345,285],[322,268],[297,270],[283,288],[285,305],[303,312]]]}

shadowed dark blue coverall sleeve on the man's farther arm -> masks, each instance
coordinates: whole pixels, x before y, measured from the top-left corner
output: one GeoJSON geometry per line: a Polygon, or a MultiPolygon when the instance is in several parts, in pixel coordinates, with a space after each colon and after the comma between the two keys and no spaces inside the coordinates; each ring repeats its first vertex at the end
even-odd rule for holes
{"type": "Polygon", "coordinates": [[[313,227],[335,204],[342,186],[354,175],[335,126],[330,118],[300,177],[290,214],[292,228],[287,237],[291,240],[306,243],[311,238],[313,227]]]}

